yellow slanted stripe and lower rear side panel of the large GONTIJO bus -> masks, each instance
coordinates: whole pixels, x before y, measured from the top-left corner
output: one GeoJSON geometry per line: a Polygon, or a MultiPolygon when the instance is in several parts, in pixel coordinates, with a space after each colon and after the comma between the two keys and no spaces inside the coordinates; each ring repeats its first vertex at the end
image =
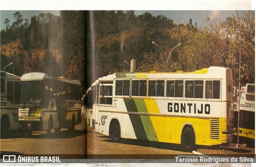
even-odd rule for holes
{"type": "MultiPolygon", "coordinates": [[[[155,99],[144,99],[148,113],[160,113],[155,99]]],[[[219,118],[220,126],[225,122],[226,118],[219,118]]],[[[159,115],[150,115],[150,120],[154,127],[154,131],[160,142],[180,144],[182,129],[184,125],[193,125],[193,130],[196,135],[196,144],[198,145],[216,145],[226,143],[226,134],[222,134],[221,128],[219,129],[218,139],[211,138],[211,124],[210,118],[198,117],[166,117],[159,115]]]]}

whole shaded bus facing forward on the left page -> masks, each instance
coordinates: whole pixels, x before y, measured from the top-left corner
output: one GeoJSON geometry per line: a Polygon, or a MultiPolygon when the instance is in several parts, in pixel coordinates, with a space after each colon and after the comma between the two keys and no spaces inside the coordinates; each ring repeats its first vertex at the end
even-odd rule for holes
{"type": "Polygon", "coordinates": [[[21,129],[46,131],[81,123],[81,83],[44,73],[24,74],[21,79],[19,122],[21,129]]]}

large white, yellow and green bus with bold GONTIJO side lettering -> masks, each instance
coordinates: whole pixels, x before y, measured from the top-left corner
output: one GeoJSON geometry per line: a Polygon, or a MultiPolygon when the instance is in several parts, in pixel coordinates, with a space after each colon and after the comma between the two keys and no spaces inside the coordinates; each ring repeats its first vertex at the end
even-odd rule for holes
{"type": "Polygon", "coordinates": [[[99,79],[98,131],[120,138],[195,145],[232,142],[232,70],[116,73],[99,79]]]}

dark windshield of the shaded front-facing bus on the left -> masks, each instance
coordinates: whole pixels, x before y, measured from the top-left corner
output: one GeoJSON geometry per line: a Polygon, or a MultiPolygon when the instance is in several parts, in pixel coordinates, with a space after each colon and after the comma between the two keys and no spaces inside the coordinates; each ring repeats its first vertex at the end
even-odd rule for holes
{"type": "Polygon", "coordinates": [[[42,81],[21,82],[20,105],[40,105],[42,81]]]}

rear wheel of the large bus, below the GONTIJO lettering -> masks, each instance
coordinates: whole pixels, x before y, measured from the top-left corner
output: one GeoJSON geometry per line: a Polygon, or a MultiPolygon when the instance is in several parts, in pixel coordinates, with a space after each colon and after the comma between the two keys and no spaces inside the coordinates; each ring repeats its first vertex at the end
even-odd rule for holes
{"type": "Polygon", "coordinates": [[[184,151],[191,152],[195,147],[195,135],[191,127],[186,127],[182,131],[181,146],[184,151]]]}

